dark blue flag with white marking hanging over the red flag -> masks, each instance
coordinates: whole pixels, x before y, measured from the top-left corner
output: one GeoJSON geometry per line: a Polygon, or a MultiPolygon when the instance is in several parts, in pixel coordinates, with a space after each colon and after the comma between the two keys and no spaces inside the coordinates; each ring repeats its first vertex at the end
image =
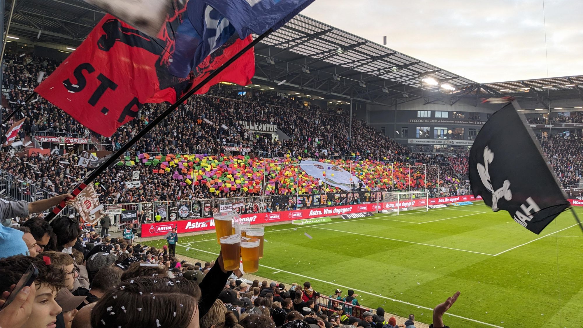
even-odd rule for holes
{"type": "Polygon", "coordinates": [[[186,78],[234,33],[234,26],[219,11],[201,0],[189,0],[187,15],[176,31],[170,73],[186,78]]]}

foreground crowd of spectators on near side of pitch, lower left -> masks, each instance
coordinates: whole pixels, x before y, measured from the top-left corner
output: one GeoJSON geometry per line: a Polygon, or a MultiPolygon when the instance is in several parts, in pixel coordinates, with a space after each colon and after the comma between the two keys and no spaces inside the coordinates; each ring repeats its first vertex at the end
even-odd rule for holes
{"type": "MultiPolygon", "coordinates": [[[[321,297],[303,285],[245,280],[224,269],[222,255],[207,263],[178,260],[161,248],[100,235],[75,215],[36,217],[62,200],[0,202],[0,326],[3,328],[414,328],[362,308],[354,291],[321,297]],[[30,284],[16,288],[32,268],[30,284]],[[12,295],[14,294],[14,295],[12,295]],[[15,297],[12,297],[15,296],[15,297]],[[363,312],[364,310],[364,312],[363,312]]],[[[430,327],[459,292],[437,305],[430,327]]]]}

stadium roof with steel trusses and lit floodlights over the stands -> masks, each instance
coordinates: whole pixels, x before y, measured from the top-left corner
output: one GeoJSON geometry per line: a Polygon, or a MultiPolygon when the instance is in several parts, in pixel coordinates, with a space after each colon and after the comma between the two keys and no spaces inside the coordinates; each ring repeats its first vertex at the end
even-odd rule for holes
{"type": "MultiPolygon", "coordinates": [[[[5,2],[5,19],[11,4],[5,2]]],[[[40,41],[77,46],[103,15],[82,0],[19,0],[9,34],[36,40],[41,30],[40,41]]],[[[303,15],[262,40],[255,52],[255,79],[262,84],[368,103],[423,98],[454,104],[463,97],[477,101],[500,95],[544,99],[546,90],[553,96],[574,91],[581,96],[583,86],[583,76],[480,84],[303,15]],[[444,84],[450,88],[442,88],[444,84]]]]}

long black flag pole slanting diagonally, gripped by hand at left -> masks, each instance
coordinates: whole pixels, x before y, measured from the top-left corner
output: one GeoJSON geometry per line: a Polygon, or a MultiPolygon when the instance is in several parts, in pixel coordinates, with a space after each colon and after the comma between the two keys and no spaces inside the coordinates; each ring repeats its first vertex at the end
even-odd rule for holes
{"type": "MultiPolygon", "coordinates": [[[[118,158],[120,158],[120,156],[123,155],[124,152],[126,152],[131,146],[133,146],[136,142],[138,142],[138,140],[141,139],[144,135],[146,135],[147,132],[152,130],[152,128],[154,126],[156,126],[158,123],[160,123],[162,120],[164,120],[164,118],[166,118],[168,115],[170,115],[175,109],[178,108],[178,106],[180,106],[180,104],[187,101],[188,98],[192,97],[192,95],[194,95],[196,93],[196,91],[198,91],[203,86],[205,86],[207,83],[209,83],[213,78],[215,78],[217,75],[219,75],[220,72],[222,72],[225,68],[229,67],[229,65],[233,64],[233,62],[236,61],[239,57],[241,57],[241,55],[243,55],[244,53],[249,51],[257,43],[259,43],[259,41],[263,40],[266,36],[268,36],[272,32],[273,32],[273,30],[269,29],[265,33],[261,34],[259,37],[257,37],[257,39],[253,40],[245,48],[241,49],[237,54],[235,54],[233,57],[231,57],[230,60],[225,62],[223,65],[221,65],[221,67],[215,69],[215,71],[213,71],[209,76],[207,76],[207,78],[204,79],[204,81],[198,83],[198,85],[196,85],[194,88],[192,88],[184,96],[180,97],[180,99],[178,99],[175,103],[173,103],[170,107],[168,107],[168,109],[166,111],[164,111],[160,116],[156,117],[152,122],[150,122],[150,124],[146,125],[146,127],[143,128],[142,131],[138,132],[138,134],[136,134],[134,138],[132,138],[130,141],[128,141],[127,144],[123,145],[117,152],[115,152],[113,156],[111,156],[105,162],[101,163],[100,166],[98,166],[96,169],[94,169],[90,173],[90,175],[87,176],[85,178],[85,180],[83,180],[83,182],[80,183],[79,186],[76,187],[75,190],[72,191],[71,194],[73,194],[74,196],[77,196],[81,191],[83,191],[83,189],[85,189],[85,187],[87,187],[87,184],[92,183],[93,180],[95,180],[97,176],[99,176],[101,173],[103,173],[105,170],[107,170],[110,166],[112,166],[115,163],[115,161],[118,160],[118,158]]],[[[57,207],[55,207],[52,210],[52,212],[50,212],[47,215],[45,220],[52,221],[52,219],[54,219],[65,207],[66,207],[65,201],[62,201],[61,204],[57,205],[57,207]]]]}

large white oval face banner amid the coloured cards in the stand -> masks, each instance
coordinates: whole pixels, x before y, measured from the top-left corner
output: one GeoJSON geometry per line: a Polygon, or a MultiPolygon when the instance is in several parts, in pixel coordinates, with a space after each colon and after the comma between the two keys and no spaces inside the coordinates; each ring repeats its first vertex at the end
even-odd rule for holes
{"type": "MultiPolygon", "coordinates": [[[[346,191],[356,189],[361,183],[359,178],[353,176],[350,172],[338,165],[314,162],[313,160],[302,160],[300,162],[300,168],[305,173],[308,173],[308,175],[346,191]]],[[[317,188],[317,186],[312,188],[317,188]]]]}

